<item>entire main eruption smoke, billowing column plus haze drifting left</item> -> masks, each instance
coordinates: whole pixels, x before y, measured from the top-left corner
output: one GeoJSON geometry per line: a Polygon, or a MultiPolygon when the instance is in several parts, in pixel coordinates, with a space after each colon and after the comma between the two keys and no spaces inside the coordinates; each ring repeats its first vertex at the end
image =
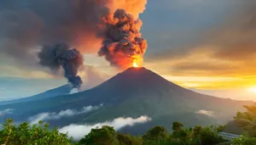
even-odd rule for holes
{"type": "Polygon", "coordinates": [[[103,41],[100,54],[111,64],[121,66],[122,59],[145,52],[145,41],[138,32],[142,23],[137,19],[146,3],[147,0],[1,0],[0,61],[35,69],[36,52],[44,44],[67,42],[81,53],[97,53],[103,41]],[[119,8],[124,11],[114,14],[119,8]]]}

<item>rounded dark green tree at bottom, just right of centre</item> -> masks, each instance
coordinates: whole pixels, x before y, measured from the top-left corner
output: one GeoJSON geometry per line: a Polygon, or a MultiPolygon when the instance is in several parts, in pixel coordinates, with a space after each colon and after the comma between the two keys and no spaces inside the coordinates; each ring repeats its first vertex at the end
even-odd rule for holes
{"type": "Polygon", "coordinates": [[[157,125],[149,129],[145,135],[143,135],[144,145],[156,145],[166,142],[168,138],[168,131],[165,127],[157,125]]]}

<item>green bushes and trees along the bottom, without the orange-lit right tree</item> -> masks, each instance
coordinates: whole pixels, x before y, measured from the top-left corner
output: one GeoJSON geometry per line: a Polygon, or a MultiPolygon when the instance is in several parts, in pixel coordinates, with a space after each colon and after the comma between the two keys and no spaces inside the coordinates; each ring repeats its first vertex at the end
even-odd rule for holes
{"type": "Polygon", "coordinates": [[[133,137],[114,131],[111,126],[92,129],[87,136],[79,142],[74,142],[73,138],[67,134],[60,133],[57,129],[48,129],[49,124],[39,121],[37,125],[29,125],[28,122],[20,125],[13,125],[13,120],[3,123],[0,131],[0,144],[5,145],[25,145],[25,144],[56,144],[56,145],[169,145],[169,144],[217,144],[225,142],[218,136],[218,131],[223,130],[223,126],[217,128],[213,126],[183,129],[183,124],[173,122],[173,131],[169,132],[163,126],[154,126],[141,137],[133,137]]]}

